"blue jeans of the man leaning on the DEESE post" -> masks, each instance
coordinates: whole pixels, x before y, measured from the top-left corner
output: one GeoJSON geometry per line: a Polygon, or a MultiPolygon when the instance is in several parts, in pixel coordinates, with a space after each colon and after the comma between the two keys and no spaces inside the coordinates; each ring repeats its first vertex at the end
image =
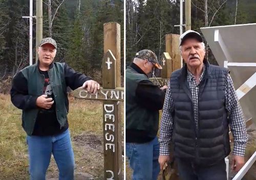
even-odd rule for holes
{"type": "Polygon", "coordinates": [[[51,154],[59,169],[60,180],[74,179],[74,153],[71,145],[70,132],[57,136],[27,136],[29,146],[29,173],[31,180],[45,180],[50,164],[51,154]]]}

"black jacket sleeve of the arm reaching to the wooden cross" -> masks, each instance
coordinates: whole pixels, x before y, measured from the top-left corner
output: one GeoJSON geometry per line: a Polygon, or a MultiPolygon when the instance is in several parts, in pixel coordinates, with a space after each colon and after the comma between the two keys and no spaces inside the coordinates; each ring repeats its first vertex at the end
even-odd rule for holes
{"type": "Polygon", "coordinates": [[[89,76],[86,76],[79,72],[75,72],[75,70],[70,68],[70,66],[67,63],[64,64],[64,73],[66,84],[72,90],[81,87],[84,82],[92,80],[92,78],[89,76]]]}

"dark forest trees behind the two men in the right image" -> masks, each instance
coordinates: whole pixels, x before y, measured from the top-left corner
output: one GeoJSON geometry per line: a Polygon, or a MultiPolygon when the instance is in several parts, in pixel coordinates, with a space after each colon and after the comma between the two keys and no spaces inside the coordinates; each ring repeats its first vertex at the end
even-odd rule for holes
{"type": "MultiPolygon", "coordinates": [[[[205,22],[205,0],[191,1],[191,29],[200,32],[205,26],[233,25],[236,14],[234,0],[208,0],[208,23],[205,22]],[[207,25],[206,25],[207,24],[207,25]]],[[[255,0],[239,0],[236,24],[256,22],[255,0]]],[[[183,24],[185,3],[183,1],[183,24]]],[[[153,50],[158,58],[165,49],[165,34],[180,34],[180,1],[127,0],[126,1],[126,65],[142,49],[153,50]]],[[[183,32],[185,28],[183,28],[183,32]]],[[[211,51],[209,61],[217,64],[211,51]]]]}

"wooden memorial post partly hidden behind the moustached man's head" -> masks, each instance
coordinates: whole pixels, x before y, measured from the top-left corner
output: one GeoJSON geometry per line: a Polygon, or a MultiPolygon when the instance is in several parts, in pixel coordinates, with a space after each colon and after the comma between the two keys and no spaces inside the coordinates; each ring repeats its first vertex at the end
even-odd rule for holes
{"type": "Polygon", "coordinates": [[[161,58],[161,78],[150,78],[154,84],[167,85],[170,75],[175,70],[182,68],[182,61],[180,55],[180,44],[178,34],[165,35],[165,52],[161,58]]]}

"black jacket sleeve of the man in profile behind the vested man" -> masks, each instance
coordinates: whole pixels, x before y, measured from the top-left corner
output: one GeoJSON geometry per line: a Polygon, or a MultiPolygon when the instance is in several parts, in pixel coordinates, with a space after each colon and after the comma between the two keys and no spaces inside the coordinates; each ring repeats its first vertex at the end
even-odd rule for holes
{"type": "Polygon", "coordinates": [[[138,104],[141,106],[151,110],[161,110],[163,108],[165,92],[151,81],[143,80],[138,84],[136,97],[138,104]]]}

